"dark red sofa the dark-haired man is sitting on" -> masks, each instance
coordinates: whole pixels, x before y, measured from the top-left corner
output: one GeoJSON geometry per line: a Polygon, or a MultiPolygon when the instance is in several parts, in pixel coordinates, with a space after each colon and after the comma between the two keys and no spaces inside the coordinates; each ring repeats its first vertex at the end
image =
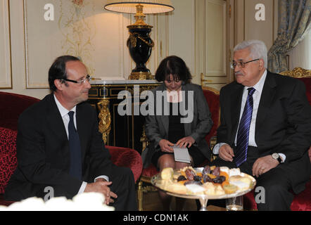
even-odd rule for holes
{"type": "MultiPolygon", "coordinates": [[[[8,94],[0,91],[0,205],[11,205],[4,200],[4,189],[17,167],[16,137],[18,134],[18,117],[23,110],[37,103],[39,99],[19,94],[8,94]]],[[[111,160],[120,167],[132,169],[137,181],[141,175],[142,161],[137,150],[106,146],[111,160]]]]}

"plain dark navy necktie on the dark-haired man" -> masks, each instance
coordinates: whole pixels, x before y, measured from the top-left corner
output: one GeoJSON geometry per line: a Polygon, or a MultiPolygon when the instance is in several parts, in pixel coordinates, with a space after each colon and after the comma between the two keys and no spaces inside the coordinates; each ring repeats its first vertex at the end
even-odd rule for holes
{"type": "Polygon", "coordinates": [[[80,139],[75,124],[73,122],[73,115],[75,112],[68,113],[70,121],[68,124],[69,133],[69,150],[70,150],[70,169],[69,174],[75,176],[77,179],[82,179],[82,160],[81,160],[81,146],[80,139]]]}

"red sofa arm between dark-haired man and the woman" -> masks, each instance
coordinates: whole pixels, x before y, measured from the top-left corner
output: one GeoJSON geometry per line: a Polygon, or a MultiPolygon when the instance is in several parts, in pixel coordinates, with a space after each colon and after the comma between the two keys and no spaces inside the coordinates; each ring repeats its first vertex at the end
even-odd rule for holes
{"type": "Polygon", "coordinates": [[[118,167],[128,167],[132,169],[134,179],[137,181],[139,176],[141,176],[141,170],[143,169],[143,162],[139,152],[131,148],[114,146],[106,146],[106,148],[108,148],[110,152],[113,164],[117,165],[118,167]]]}

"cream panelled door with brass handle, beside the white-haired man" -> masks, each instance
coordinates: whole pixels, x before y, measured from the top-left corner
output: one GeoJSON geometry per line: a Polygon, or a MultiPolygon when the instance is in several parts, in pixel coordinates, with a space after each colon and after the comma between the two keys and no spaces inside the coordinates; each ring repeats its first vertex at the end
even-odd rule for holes
{"type": "Polygon", "coordinates": [[[222,0],[196,1],[196,58],[200,60],[196,66],[203,74],[203,86],[215,89],[230,81],[227,5],[222,0]]]}

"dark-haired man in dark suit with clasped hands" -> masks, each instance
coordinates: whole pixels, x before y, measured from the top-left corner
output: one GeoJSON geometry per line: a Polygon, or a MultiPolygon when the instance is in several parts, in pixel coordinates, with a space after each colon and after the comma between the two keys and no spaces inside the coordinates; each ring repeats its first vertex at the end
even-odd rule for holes
{"type": "Polygon", "coordinates": [[[99,192],[116,210],[137,210],[132,171],[113,165],[96,111],[85,102],[89,79],[78,58],[55,60],[49,70],[52,94],[20,115],[18,168],[6,188],[7,200],[44,198],[51,187],[55,197],[99,192]]]}

